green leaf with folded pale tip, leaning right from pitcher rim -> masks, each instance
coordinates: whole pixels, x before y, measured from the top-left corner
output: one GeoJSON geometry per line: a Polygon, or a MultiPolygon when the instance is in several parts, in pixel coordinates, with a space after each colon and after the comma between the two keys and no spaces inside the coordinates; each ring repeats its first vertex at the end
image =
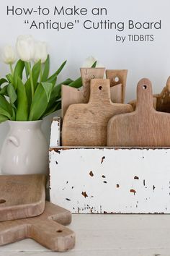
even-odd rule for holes
{"type": "MultiPolygon", "coordinates": [[[[47,84],[47,83],[43,83],[47,84]]],[[[51,84],[49,84],[51,85],[51,84]]],[[[42,85],[40,83],[37,85],[37,90],[35,91],[34,98],[32,100],[30,108],[29,121],[39,120],[42,115],[45,113],[45,110],[48,106],[48,98],[50,95],[51,86],[42,85]]]]}

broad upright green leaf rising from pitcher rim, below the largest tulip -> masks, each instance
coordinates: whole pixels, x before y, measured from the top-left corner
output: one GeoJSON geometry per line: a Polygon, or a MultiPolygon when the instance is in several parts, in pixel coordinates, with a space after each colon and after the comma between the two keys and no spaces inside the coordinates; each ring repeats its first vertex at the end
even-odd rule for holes
{"type": "Polygon", "coordinates": [[[27,95],[24,88],[24,84],[20,78],[18,78],[17,82],[17,121],[27,121],[28,117],[28,103],[27,103],[27,95]]]}

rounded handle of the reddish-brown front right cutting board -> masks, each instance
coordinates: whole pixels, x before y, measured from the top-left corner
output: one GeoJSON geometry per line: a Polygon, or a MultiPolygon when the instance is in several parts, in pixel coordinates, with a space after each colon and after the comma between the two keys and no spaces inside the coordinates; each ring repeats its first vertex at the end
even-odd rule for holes
{"type": "Polygon", "coordinates": [[[148,111],[153,108],[152,84],[147,78],[138,82],[136,111],[148,111]]]}

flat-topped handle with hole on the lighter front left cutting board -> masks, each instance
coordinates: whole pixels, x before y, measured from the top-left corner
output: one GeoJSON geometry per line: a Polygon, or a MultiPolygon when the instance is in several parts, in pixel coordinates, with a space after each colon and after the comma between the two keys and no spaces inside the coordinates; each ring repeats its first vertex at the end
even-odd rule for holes
{"type": "Polygon", "coordinates": [[[111,103],[109,79],[92,79],[90,82],[89,103],[101,105],[106,102],[111,103]]]}

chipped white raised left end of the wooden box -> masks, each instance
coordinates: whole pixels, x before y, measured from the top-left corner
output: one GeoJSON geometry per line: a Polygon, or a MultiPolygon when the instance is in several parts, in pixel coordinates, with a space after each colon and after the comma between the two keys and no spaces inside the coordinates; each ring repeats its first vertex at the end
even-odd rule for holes
{"type": "Polygon", "coordinates": [[[61,118],[54,117],[50,131],[50,148],[61,145],[61,118]]]}

